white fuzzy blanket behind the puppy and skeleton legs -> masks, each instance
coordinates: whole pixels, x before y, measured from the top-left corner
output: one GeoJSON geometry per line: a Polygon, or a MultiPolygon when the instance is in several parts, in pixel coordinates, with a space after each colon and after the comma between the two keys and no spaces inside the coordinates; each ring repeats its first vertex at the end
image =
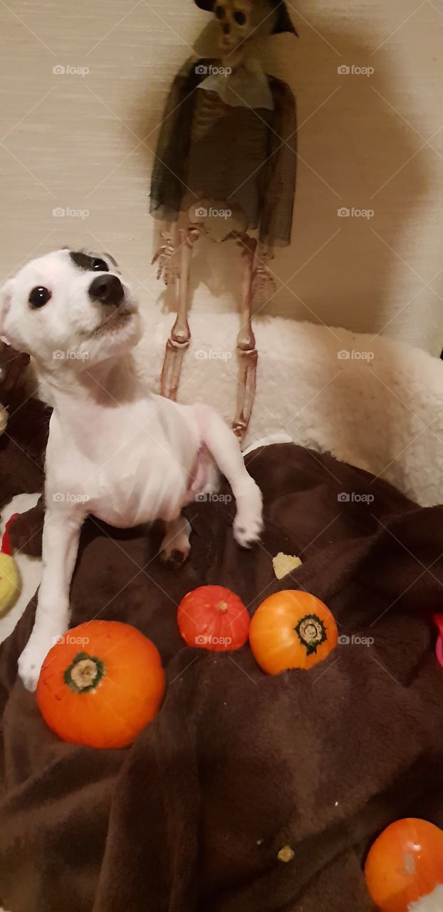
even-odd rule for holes
{"type": "MultiPolygon", "coordinates": [[[[148,314],[140,369],[158,389],[173,316],[148,314]]],[[[235,412],[238,317],[191,314],[182,402],[235,412]]],[[[443,362],[420,348],[346,329],[258,317],[255,407],[245,446],[294,440],[392,482],[424,506],[443,503],[443,362]]]]}

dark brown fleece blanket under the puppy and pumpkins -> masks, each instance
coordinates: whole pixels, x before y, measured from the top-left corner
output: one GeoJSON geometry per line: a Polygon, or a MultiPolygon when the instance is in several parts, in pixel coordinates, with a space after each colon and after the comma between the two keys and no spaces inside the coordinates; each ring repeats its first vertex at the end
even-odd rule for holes
{"type": "MultiPolygon", "coordinates": [[[[11,447],[0,441],[0,471],[11,447]]],[[[23,450],[14,458],[23,479],[26,464],[37,472],[23,450]]],[[[443,608],[443,508],[291,444],[246,461],[266,517],[252,552],[233,542],[224,503],[189,509],[180,570],[157,558],[160,530],[85,525],[72,624],[126,620],[167,670],[160,713],[129,750],[75,747],[46,728],[16,679],[35,604],[1,649],[0,899],[11,912],[364,912],[376,834],[408,815],[443,825],[443,670],[429,620],[443,608]],[[280,551],[303,565],[277,582],[280,551]],[[185,648],[178,602],[215,583],[251,613],[305,588],[342,636],[374,644],[275,678],[249,648],[185,648]]],[[[11,483],[2,476],[0,502],[11,483]]],[[[36,514],[23,523],[27,537],[38,530],[36,514]]]]}

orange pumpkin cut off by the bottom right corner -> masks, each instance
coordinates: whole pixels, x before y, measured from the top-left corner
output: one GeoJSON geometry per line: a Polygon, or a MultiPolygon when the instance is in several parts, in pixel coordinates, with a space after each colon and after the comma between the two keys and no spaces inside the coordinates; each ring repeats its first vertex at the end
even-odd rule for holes
{"type": "Polygon", "coordinates": [[[443,830],[415,817],[390,824],[369,851],[365,877],[380,912],[407,912],[443,884],[443,830]]]}

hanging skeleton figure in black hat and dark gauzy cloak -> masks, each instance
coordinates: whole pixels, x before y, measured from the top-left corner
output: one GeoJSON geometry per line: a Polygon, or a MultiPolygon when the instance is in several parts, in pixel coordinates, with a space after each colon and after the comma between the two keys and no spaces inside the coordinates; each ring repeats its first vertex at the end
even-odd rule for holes
{"type": "Polygon", "coordinates": [[[166,346],[161,394],[176,399],[190,344],[188,310],[194,244],[201,233],[232,238],[242,249],[239,438],[255,394],[257,350],[252,301],[273,294],[269,269],[275,244],[289,244],[295,189],[295,101],[291,89],[259,62],[263,37],[296,35],[281,0],[195,0],[213,12],[220,56],[188,61],[170,90],[152,175],[150,212],[163,220],[153,258],[158,278],[178,281],[177,319],[166,346]],[[186,213],[179,227],[180,212],[186,213]],[[254,236],[251,232],[258,236],[254,236]]]}

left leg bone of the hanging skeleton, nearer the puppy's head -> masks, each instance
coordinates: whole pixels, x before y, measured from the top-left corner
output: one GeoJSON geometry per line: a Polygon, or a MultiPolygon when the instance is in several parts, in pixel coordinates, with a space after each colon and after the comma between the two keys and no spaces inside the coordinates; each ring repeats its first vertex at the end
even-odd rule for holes
{"type": "Polygon", "coordinates": [[[191,330],[188,323],[188,309],[190,306],[190,271],[192,247],[200,237],[200,230],[196,225],[189,224],[186,229],[180,229],[180,275],[178,283],[178,308],[177,318],[172,326],[170,338],[166,344],[163,369],[161,371],[160,395],[177,399],[179,389],[181,362],[183,355],[190,345],[191,330]]]}

